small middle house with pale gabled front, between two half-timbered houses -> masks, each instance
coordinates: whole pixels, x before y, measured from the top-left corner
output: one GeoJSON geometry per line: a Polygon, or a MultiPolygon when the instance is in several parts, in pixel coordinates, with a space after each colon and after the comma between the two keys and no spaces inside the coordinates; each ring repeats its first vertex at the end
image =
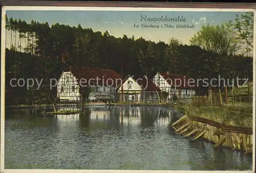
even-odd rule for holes
{"type": "Polygon", "coordinates": [[[154,102],[158,101],[159,97],[164,98],[167,93],[162,92],[152,80],[145,76],[128,75],[123,79],[122,85],[116,88],[118,101],[125,102],[154,102]]]}

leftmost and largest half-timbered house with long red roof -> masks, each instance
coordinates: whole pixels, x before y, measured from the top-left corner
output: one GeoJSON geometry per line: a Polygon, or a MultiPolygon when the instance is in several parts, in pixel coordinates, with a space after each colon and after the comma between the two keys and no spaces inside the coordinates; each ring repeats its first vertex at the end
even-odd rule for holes
{"type": "Polygon", "coordinates": [[[60,100],[80,99],[79,86],[90,86],[90,101],[115,99],[114,89],[121,83],[121,76],[114,70],[70,67],[63,72],[57,83],[60,100]]]}

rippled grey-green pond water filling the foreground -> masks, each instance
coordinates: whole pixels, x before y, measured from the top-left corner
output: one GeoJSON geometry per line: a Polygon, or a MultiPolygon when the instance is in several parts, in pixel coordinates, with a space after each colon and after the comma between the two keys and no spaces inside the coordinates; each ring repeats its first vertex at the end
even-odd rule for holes
{"type": "MultiPolygon", "coordinates": [[[[59,107],[59,109],[71,109],[59,107]]],[[[180,113],[152,106],[91,106],[90,118],[6,109],[6,169],[248,170],[252,157],[176,135],[180,113]],[[123,118],[121,118],[123,115],[123,118]]],[[[47,111],[52,111],[49,108],[47,111]]]]}

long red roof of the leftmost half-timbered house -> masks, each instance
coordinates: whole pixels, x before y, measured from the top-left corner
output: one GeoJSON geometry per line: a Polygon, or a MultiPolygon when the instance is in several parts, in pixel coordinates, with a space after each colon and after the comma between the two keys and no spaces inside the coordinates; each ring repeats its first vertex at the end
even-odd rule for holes
{"type": "Polygon", "coordinates": [[[78,83],[81,79],[86,79],[90,85],[99,85],[105,87],[117,87],[121,83],[121,75],[114,70],[70,67],[68,71],[75,76],[78,83]]]}

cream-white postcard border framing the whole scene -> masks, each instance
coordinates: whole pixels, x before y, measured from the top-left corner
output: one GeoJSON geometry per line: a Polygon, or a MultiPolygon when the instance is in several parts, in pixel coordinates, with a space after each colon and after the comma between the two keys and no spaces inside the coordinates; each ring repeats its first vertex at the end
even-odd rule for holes
{"type": "MultiPolygon", "coordinates": [[[[7,5],[7,4],[12,4],[14,2],[2,2],[2,5],[7,5]]],[[[29,2],[26,2],[25,4],[29,4],[29,2]]],[[[32,2],[30,2],[32,3],[32,2]]],[[[90,6],[89,2],[87,5],[89,6],[84,6],[84,4],[86,3],[79,3],[77,2],[77,4],[80,4],[82,6],[75,6],[77,5],[76,3],[60,3],[60,2],[51,2],[49,3],[49,1],[45,4],[51,4],[49,6],[45,6],[45,7],[41,7],[41,6],[30,6],[30,7],[26,7],[26,6],[5,6],[2,8],[2,30],[1,30],[1,165],[0,165],[0,171],[1,172],[45,172],[45,171],[51,171],[51,172],[82,172],[84,170],[86,170],[87,172],[188,172],[185,170],[89,170],[89,169],[84,169],[84,170],[67,170],[67,169],[4,169],[4,138],[5,138],[5,133],[4,133],[4,129],[5,129],[5,20],[3,20],[3,16],[5,15],[7,10],[63,10],[63,11],[78,11],[78,10],[83,10],[83,11],[251,11],[254,12],[254,37],[253,37],[253,45],[256,45],[256,10],[252,9],[252,6],[249,5],[243,5],[243,4],[236,4],[238,5],[237,7],[240,8],[231,8],[228,7],[227,5],[217,5],[217,4],[208,4],[208,5],[201,5],[201,4],[195,4],[194,9],[191,9],[191,5],[190,8],[188,8],[189,5],[185,5],[185,4],[171,4],[171,5],[164,5],[163,3],[161,3],[161,5],[153,4],[151,3],[150,6],[156,6],[157,7],[142,7],[143,5],[146,5],[147,3],[141,3],[138,5],[138,3],[133,3],[134,7],[129,7],[129,6],[125,6],[124,5],[128,5],[131,3],[90,3],[90,4],[94,4],[93,6],[90,6]],[[110,4],[116,4],[116,6],[112,5],[112,7],[106,7],[106,5],[110,5],[110,4]],[[122,4],[122,5],[121,5],[122,4]],[[136,5],[135,5],[136,4],[136,5]],[[163,5],[162,5],[163,4],[163,5]],[[53,7],[58,5],[59,7],[53,7]],[[120,5],[122,7],[120,7],[120,5]],[[182,6],[186,6],[187,8],[184,8],[182,6]],[[61,7],[60,7],[61,6],[61,7]],[[69,6],[69,7],[67,7],[69,6]],[[72,6],[72,7],[70,7],[72,6]],[[96,7],[97,6],[97,7],[96,7]],[[135,7],[136,6],[136,7],[135,7]],[[139,6],[139,7],[138,7],[139,6]],[[161,6],[165,6],[165,7],[161,7],[161,6]],[[200,8],[204,7],[204,8],[200,8]],[[210,7],[211,6],[211,7],[210,7]],[[249,8],[249,7],[250,8],[249,8]],[[167,7],[167,8],[166,8],[167,7]],[[177,8],[177,9],[172,9],[172,8],[177,8]],[[224,8],[225,7],[225,8],[224,8]],[[241,8],[243,7],[243,8],[241,8]],[[72,10],[73,9],[73,10],[72,10]],[[4,79],[4,80],[3,80],[4,79]]],[[[24,5],[24,3],[23,3],[24,5]]],[[[147,4],[148,5],[148,4],[147,4]]],[[[192,5],[193,6],[193,5],[192,5]]],[[[254,5],[255,6],[255,5],[254,5]]],[[[255,6],[256,7],[256,6],[255,6]]],[[[253,132],[255,132],[255,94],[256,94],[256,90],[255,90],[255,77],[256,77],[256,68],[255,68],[255,64],[256,64],[256,47],[253,47],[253,132]]],[[[253,133],[253,163],[252,163],[252,172],[254,172],[255,170],[255,133],[253,133]]],[[[209,172],[209,171],[189,171],[189,172],[209,172]]],[[[211,171],[210,171],[211,172],[211,171]]],[[[236,172],[236,171],[218,171],[218,172],[236,172]]],[[[238,171],[238,172],[251,172],[251,171],[238,171]]]]}

